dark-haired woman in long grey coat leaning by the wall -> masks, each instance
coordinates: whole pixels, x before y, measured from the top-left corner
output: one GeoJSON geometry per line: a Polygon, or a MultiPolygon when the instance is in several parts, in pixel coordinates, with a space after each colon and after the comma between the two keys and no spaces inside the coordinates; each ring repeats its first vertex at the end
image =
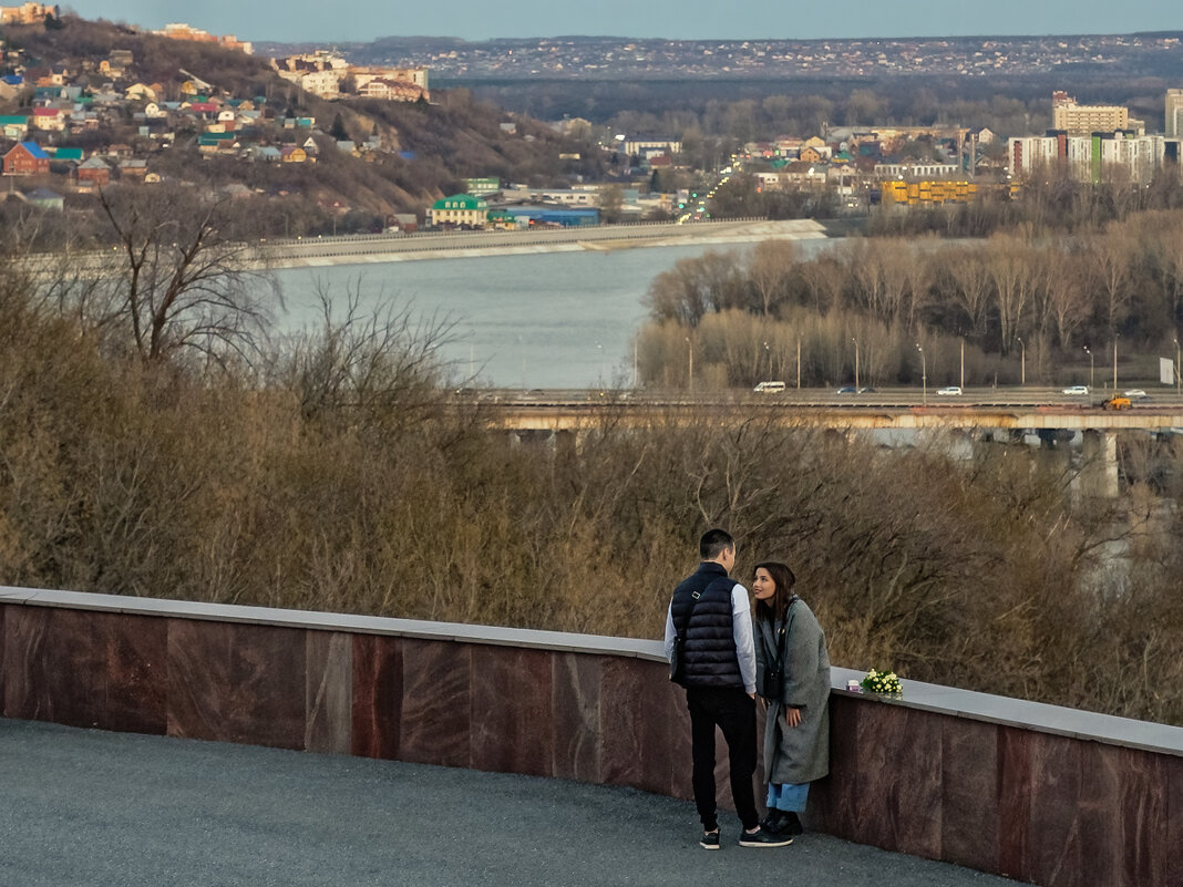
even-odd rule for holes
{"type": "Polygon", "coordinates": [[[772,834],[800,835],[809,783],[829,772],[829,655],[813,610],[782,563],[756,565],[756,687],[768,706],[764,775],[772,834]],[[780,663],[781,679],[775,672],[780,663]]]}

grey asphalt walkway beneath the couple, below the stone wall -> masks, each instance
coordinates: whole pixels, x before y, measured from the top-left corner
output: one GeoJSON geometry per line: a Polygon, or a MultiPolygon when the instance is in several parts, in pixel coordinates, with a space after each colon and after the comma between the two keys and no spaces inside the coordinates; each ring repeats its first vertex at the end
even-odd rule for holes
{"type": "Polygon", "coordinates": [[[1002,887],[807,834],[698,847],[693,805],[629,789],[0,719],[6,887],[1002,887]]]}

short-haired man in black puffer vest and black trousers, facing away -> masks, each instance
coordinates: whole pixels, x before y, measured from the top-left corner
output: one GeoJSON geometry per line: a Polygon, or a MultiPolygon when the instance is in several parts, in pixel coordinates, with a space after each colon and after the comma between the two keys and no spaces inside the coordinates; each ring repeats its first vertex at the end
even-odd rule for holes
{"type": "Polygon", "coordinates": [[[674,589],[666,616],[665,653],[686,688],[693,755],[694,803],[703,821],[699,843],[719,849],[716,816],[715,729],[728,744],[731,796],[743,823],[742,847],[784,847],[793,839],[759,827],[752,776],[756,772],[756,648],[748,589],[728,578],[736,544],[725,530],[707,530],[698,544],[703,563],[674,589]]]}

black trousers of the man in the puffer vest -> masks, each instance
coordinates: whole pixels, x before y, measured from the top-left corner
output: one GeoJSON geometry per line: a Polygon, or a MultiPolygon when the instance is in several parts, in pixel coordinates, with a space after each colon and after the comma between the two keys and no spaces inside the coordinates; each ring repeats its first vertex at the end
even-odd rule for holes
{"type": "Polygon", "coordinates": [[[693,785],[698,818],[706,831],[719,827],[716,816],[715,727],[728,744],[731,797],[745,829],[759,824],[752,776],[756,773],[756,700],[735,687],[687,687],[693,785]]]}

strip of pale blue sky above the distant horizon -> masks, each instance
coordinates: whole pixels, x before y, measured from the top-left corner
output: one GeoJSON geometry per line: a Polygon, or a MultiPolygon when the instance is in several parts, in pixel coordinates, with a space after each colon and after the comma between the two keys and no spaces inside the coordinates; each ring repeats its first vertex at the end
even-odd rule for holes
{"type": "Polygon", "coordinates": [[[283,43],[394,35],[815,39],[1183,31],[1177,0],[76,0],[62,6],[88,19],[147,28],[183,21],[215,34],[283,43]]]}

